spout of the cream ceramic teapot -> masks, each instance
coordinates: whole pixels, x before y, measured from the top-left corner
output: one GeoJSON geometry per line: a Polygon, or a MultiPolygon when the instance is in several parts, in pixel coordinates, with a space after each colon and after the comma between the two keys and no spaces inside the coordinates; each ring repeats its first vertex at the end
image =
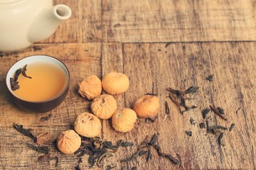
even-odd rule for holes
{"type": "Polygon", "coordinates": [[[58,4],[41,11],[31,24],[28,40],[30,42],[45,40],[57,30],[62,21],[70,18],[71,13],[70,7],[64,4],[58,4]]]}

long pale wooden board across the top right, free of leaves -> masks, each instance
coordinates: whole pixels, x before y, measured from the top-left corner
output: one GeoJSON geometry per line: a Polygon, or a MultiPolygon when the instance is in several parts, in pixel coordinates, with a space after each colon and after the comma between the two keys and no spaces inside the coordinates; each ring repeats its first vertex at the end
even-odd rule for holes
{"type": "Polygon", "coordinates": [[[228,1],[102,1],[105,42],[255,40],[255,5],[228,1]]]}

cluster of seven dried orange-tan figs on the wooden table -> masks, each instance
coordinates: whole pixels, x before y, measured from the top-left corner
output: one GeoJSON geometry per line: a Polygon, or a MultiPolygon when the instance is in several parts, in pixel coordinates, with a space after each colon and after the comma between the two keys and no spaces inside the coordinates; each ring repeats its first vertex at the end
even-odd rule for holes
{"type": "Polygon", "coordinates": [[[95,75],[86,77],[78,84],[78,93],[88,100],[92,113],[81,113],[75,120],[74,130],[62,132],[57,140],[58,149],[72,154],[81,145],[81,136],[98,137],[102,129],[100,119],[112,118],[112,127],[117,132],[129,132],[134,128],[137,116],[154,118],[159,112],[159,98],[144,95],[137,99],[133,108],[117,108],[114,95],[123,94],[129,88],[129,79],[125,74],[110,72],[102,81],[95,75]],[[104,89],[107,94],[102,94],[104,89]]]}

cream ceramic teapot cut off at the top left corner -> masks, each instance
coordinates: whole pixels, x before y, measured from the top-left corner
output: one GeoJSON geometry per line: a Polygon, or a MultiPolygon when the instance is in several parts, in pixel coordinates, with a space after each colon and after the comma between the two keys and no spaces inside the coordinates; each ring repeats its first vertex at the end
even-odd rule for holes
{"type": "Polygon", "coordinates": [[[52,0],[0,0],[0,51],[16,51],[52,35],[71,9],[52,0]]]}

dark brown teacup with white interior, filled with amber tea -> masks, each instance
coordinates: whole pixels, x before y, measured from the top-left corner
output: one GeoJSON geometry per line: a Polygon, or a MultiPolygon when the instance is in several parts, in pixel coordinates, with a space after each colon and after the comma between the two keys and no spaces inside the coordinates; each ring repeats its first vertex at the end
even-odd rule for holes
{"type": "Polygon", "coordinates": [[[70,74],[63,62],[47,55],[18,60],[6,74],[11,99],[25,111],[46,112],[68,94],[70,74]]]}

